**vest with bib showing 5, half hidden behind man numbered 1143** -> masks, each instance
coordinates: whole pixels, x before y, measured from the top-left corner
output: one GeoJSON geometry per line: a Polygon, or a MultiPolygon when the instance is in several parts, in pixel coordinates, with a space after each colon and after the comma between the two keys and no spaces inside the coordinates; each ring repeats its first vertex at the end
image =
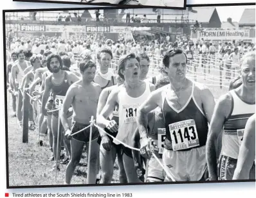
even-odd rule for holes
{"type": "Polygon", "coordinates": [[[158,153],[162,154],[166,138],[165,120],[160,107],[153,110],[152,113],[153,121],[152,124],[149,123],[149,136],[154,140],[156,145],[158,145],[158,153]]]}

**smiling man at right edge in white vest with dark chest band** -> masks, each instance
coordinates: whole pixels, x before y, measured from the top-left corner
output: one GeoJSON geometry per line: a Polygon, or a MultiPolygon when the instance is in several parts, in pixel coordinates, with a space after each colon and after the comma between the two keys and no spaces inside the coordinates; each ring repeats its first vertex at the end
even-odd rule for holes
{"type": "MultiPolygon", "coordinates": [[[[210,124],[206,160],[210,180],[213,181],[233,178],[246,122],[255,113],[255,52],[245,54],[240,67],[242,85],[219,98],[210,124]],[[214,148],[222,131],[221,156],[217,156],[214,148]]],[[[251,167],[249,177],[255,179],[255,164],[251,167]]]]}

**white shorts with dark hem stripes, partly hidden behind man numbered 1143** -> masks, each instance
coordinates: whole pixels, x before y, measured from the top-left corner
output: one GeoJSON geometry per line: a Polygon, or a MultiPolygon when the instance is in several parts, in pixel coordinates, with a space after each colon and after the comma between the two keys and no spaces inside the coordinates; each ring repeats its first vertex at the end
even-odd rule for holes
{"type": "MultiPolygon", "coordinates": [[[[163,160],[159,159],[161,163],[163,163],[163,160]]],[[[160,182],[165,180],[165,172],[161,165],[156,161],[154,157],[151,157],[151,160],[149,160],[149,170],[147,173],[147,180],[153,181],[153,182],[160,182]]]]}

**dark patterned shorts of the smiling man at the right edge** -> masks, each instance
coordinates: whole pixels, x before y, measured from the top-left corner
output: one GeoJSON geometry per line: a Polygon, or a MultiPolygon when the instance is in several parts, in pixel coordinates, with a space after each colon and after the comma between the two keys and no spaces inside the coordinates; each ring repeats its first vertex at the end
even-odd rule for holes
{"type": "MultiPolygon", "coordinates": [[[[221,155],[217,163],[219,180],[232,180],[236,167],[237,167],[236,159],[221,155]]],[[[255,179],[255,162],[251,167],[249,179],[255,179]]]]}

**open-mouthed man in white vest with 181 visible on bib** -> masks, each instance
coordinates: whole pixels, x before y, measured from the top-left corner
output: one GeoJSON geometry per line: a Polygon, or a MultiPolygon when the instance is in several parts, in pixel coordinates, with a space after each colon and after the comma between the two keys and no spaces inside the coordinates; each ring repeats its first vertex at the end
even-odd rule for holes
{"type": "MultiPolygon", "coordinates": [[[[154,86],[150,83],[141,81],[139,78],[140,64],[136,60],[135,54],[127,54],[120,58],[118,63],[118,74],[124,79],[122,86],[114,89],[107,102],[97,117],[97,124],[102,128],[107,128],[111,133],[117,133],[116,139],[132,146],[133,133],[137,128],[136,113],[140,104],[149,97],[154,86]],[[118,105],[119,124],[114,120],[107,118],[113,113],[116,105],[118,105]]],[[[100,132],[101,135],[104,135],[100,132]]],[[[120,142],[113,141],[118,145],[120,142]]],[[[129,183],[140,183],[134,167],[133,155],[131,149],[122,146],[123,165],[129,183]]]]}

